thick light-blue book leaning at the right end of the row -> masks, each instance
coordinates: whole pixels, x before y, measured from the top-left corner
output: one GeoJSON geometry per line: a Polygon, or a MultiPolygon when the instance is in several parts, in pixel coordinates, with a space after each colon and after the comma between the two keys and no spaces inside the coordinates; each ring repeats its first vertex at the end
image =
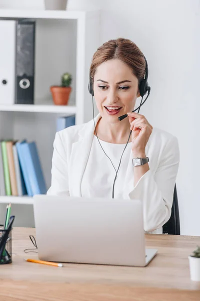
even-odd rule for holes
{"type": "Polygon", "coordinates": [[[35,194],[46,194],[46,184],[35,142],[22,143],[20,147],[24,156],[32,196],[35,194]]]}

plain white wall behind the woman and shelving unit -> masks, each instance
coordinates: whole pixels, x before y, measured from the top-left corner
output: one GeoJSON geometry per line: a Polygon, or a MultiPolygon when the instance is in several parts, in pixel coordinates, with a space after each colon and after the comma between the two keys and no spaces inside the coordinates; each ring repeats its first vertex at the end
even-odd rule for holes
{"type": "MultiPolygon", "coordinates": [[[[0,0],[0,8],[43,9],[43,1],[0,0]]],[[[101,42],[129,38],[145,54],[151,94],[140,113],[153,126],[178,137],[176,185],[181,234],[200,235],[199,1],[68,0],[67,8],[102,10],[101,42]]]]}

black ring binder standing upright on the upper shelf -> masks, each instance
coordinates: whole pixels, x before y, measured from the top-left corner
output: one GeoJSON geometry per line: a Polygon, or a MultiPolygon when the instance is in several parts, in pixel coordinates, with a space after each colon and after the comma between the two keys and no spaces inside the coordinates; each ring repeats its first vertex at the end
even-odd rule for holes
{"type": "Polygon", "coordinates": [[[34,103],[35,22],[16,24],[15,103],[34,103]]]}

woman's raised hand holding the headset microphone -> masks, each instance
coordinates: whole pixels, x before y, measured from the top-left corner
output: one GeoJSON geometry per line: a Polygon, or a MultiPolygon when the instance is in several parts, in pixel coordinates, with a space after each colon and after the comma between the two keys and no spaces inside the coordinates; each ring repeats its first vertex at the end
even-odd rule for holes
{"type": "Polygon", "coordinates": [[[147,119],[135,112],[127,113],[130,122],[130,129],[132,130],[132,153],[134,157],[142,158],[145,156],[145,146],[152,132],[152,125],[147,119]]]}

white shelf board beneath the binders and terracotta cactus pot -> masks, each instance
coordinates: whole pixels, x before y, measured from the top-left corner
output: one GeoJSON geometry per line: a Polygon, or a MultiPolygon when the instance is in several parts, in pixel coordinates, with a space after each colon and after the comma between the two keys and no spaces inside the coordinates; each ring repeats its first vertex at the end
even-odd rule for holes
{"type": "Polygon", "coordinates": [[[41,112],[41,113],[76,113],[75,105],[54,105],[51,102],[48,104],[13,104],[0,105],[0,111],[9,112],[41,112]]]}

